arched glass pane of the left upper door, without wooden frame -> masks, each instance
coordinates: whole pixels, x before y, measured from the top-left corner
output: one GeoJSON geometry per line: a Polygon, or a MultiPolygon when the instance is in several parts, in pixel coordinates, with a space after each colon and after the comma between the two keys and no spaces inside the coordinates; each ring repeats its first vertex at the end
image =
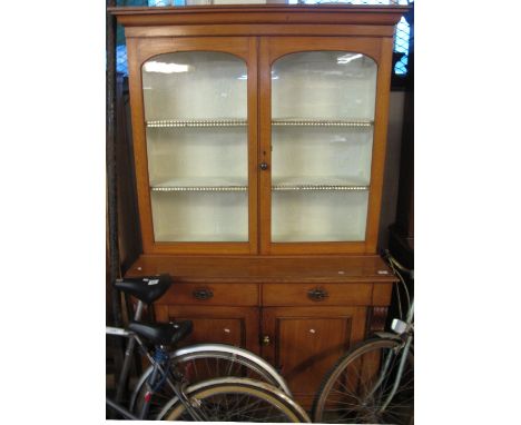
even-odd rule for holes
{"type": "Polygon", "coordinates": [[[189,51],[142,66],[156,241],[248,240],[247,69],[189,51]]]}

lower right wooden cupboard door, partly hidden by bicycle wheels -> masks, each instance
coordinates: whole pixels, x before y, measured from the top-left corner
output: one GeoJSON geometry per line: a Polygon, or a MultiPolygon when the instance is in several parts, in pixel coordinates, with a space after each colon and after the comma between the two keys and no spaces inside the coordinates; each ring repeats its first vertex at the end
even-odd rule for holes
{"type": "Polygon", "coordinates": [[[351,344],[362,340],[365,307],[266,307],[262,353],[309,408],[322,377],[351,344]]]}

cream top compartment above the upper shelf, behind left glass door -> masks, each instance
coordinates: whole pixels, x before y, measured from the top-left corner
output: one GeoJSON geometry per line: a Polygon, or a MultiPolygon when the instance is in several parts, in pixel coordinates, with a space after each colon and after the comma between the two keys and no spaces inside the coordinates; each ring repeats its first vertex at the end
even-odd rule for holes
{"type": "Polygon", "coordinates": [[[245,77],[246,63],[234,55],[159,55],[142,67],[145,119],[246,119],[245,77]]]}

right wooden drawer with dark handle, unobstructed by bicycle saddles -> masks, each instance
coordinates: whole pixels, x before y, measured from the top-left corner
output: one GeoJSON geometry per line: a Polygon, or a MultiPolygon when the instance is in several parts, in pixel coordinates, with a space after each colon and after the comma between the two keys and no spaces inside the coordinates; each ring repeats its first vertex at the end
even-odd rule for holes
{"type": "Polygon", "coordinates": [[[263,284],[264,306],[370,305],[373,284],[263,284]]]}

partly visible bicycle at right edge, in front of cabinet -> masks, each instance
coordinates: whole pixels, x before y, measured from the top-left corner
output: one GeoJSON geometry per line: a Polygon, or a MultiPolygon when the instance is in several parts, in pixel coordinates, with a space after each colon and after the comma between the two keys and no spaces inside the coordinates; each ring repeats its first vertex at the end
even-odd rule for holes
{"type": "Polygon", "coordinates": [[[399,278],[399,316],[392,333],[348,349],[324,376],[313,404],[313,421],[320,423],[414,423],[414,298],[411,300],[404,275],[414,280],[414,271],[403,267],[389,251],[391,269],[399,278]],[[405,294],[405,319],[401,308],[400,285],[405,294]]]}

